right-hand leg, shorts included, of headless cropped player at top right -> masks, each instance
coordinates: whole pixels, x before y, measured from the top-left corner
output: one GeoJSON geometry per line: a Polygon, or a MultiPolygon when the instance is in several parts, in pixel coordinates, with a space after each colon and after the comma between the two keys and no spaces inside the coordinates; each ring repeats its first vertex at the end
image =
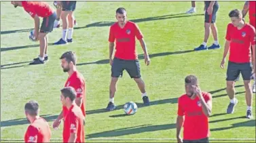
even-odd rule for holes
{"type": "Polygon", "coordinates": [[[217,17],[218,10],[219,10],[219,5],[213,6],[213,14],[211,17],[211,30],[213,33],[214,43],[213,43],[213,45],[208,47],[208,49],[219,49],[220,48],[219,41],[218,41],[218,31],[217,31],[217,26],[216,26],[216,17],[217,17]]]}

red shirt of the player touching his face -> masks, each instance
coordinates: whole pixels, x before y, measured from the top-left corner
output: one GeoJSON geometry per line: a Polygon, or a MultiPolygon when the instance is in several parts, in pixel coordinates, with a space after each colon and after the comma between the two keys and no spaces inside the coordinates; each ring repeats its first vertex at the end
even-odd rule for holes
{"type": "MultiPolygon", "coordinates": [[[[206,92],[202,92],[202,96],[206,103],[211,99],[211,94],[206,92]]],[[[202,103],[198,96],[191,100],[183,94],[178,100],[178,115],[185,116],[183,140],[200,140],[211,135],[208,117],[202,111],[202,103]]]]}

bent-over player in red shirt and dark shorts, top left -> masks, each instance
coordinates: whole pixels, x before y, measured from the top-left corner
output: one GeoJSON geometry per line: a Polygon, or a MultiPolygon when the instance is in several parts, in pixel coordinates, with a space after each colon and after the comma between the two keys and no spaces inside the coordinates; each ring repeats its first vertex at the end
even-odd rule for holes
{"type": "Polygon", "coordinates": [[[43,1],[12,1],[14,7],[23,7],[31,17],[35,20],[35,39],[40,43],[40,55],[35,58],[30,64],[44,64],[48,60],[48,33],[51,33],[54,28],[54,20],[56,20],[56,12],[43,1]],[[41,28],[39,29],[40,20],[43,18],[41,28]]]}

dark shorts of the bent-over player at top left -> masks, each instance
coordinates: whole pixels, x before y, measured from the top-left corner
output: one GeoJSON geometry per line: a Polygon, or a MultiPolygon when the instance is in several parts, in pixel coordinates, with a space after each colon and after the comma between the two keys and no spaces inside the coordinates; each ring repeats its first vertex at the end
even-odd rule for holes
{"type": "Polygon", "coordinates": [[[43,18],[43,22],[41,24],[40,33],[50,33],[54,29],[54,21],[57,18],[56,12],[47,18],[43,18]]]}

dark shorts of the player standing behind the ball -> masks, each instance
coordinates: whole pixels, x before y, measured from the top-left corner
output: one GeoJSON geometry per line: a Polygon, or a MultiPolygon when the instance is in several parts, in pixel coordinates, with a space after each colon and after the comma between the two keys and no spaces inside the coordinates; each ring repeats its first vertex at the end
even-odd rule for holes
{"type": "Polygon", "coordinates": [[[122,77],[123,71],[126,70],[130,78],[141,78],[139,60],[122,60],[114,58],[111,66],[111,77],[122,77]]]}

